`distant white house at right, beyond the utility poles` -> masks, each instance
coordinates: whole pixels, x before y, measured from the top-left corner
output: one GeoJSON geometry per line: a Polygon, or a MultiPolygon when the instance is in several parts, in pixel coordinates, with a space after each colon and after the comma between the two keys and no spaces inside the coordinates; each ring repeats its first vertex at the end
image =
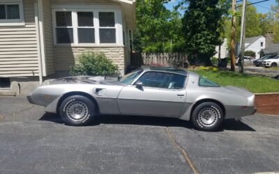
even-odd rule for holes
{"type": "Polygon", "coordinates": [[[263,35],[245,39],[245,51],[256,53],[255,58],[260,58],[259,51],[266,47],[266,38],[263,35]]]}

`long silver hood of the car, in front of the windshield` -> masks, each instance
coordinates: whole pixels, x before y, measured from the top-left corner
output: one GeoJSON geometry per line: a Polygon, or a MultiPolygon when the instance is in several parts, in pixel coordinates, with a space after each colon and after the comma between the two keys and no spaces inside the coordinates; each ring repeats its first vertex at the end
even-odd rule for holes
{"type": "Polygon", "coordinates": [[[100,85],[123,85],[117,77],[63,77],[60,79],[45,80],[41,86],[57,85],[57,84],[100,84],[100,85]]]}

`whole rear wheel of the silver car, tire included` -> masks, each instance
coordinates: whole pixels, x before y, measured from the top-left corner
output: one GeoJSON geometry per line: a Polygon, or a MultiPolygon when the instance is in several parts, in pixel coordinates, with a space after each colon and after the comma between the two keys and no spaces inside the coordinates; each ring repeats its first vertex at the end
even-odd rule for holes
{"type": "Polygon", "coordinates": [[[204,102],[195,107],[191,120],[199,130],[215,131],[222,125],[224,113],[218,104],[204,102]]]}

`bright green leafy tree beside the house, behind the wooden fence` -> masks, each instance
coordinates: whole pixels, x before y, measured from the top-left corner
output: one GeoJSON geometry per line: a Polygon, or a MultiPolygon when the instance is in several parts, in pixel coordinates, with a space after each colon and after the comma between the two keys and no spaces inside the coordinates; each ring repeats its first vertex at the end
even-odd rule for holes
{"type": "Polygon", "coordinates": [[[138,52],[172,52],[183,44],[179,13],[165,8],[167,0],[137,1],[134,46],[138,52]]]}

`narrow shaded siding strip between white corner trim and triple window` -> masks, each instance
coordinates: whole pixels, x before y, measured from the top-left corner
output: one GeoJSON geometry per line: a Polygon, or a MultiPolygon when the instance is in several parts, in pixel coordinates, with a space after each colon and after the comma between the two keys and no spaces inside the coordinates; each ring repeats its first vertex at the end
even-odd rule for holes
{"type": "Polygon", "coordinates": [[[52,28],[52,6],[50,0],[43,0],[43,26],[45,38],[45,69],[46,74],[54,74],[54,41],[52,28]]]}

